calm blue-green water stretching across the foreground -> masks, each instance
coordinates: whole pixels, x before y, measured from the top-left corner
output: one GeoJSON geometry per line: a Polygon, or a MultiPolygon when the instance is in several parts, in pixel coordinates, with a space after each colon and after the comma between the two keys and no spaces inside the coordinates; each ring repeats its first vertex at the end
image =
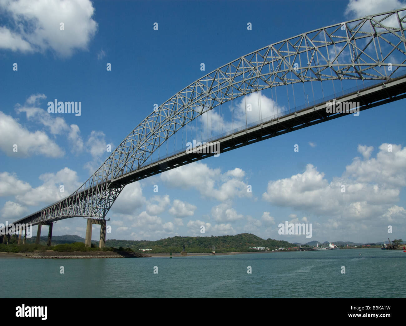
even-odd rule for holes
{"type": "Polygon", "coordinates": [[[138,259],[0,258],[2,298],[405,298],[403,250],[138,259]],[[359,255],[361,253],[361,255],[359,255]],[[65,274],[60,274],[60,266],[65,274]],[[154,274],[154,266],[158,274],[154,274]],[[252,274],[247,273],[251,266],[252,274]],[[346,273],[341,273],[345,266],[346,273]]]}

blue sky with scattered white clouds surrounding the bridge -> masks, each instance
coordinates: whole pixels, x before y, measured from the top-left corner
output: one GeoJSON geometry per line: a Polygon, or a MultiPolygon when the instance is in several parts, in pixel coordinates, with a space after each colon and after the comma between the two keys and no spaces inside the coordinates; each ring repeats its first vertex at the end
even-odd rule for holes
{"type": "MultiPolygon", "coordinates": [[[[303,32],[406,7],[397,0],[65,2],[62,9],[59,1],[0,0],[3,223],[75,191],[108,157],[107,144],[117,147],[155,103],[205,73],[303,32]],[[81,115],[49,114],[54,99],[81,101],[81,115]]],[[[404,239],[404,105],[396,101],[130,184],[110,209],[107,239],[243,232],[289,242],[404,239]],[[355,188],[337,204],[331,189],[340,180],[355,188]],[[312,223],[312,238],[279,235],[285,220],[312,223]]],[[[85,228],[85,220],[72,218],[57,222],[53,234],[84,237],[85,228]]]]}

